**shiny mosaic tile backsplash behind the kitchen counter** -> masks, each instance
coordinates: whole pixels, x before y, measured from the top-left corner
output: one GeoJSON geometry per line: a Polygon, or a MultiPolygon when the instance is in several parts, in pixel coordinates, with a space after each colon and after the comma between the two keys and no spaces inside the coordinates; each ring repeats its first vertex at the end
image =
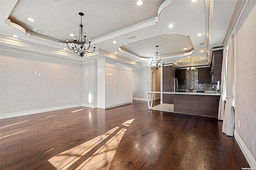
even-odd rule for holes
{"type": "Polygon", "coordinates": [[[198,69],[195,70],[186,70],[186,83],[179,84],[178,90],[209,90],[213,91],[213,85],[217,85],[217,83],[198,83],[198,69]]]}

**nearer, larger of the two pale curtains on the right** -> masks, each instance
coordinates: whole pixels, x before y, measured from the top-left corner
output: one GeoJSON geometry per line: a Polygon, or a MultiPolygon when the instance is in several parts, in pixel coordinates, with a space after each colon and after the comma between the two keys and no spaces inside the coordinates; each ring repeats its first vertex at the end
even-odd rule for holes
{"type": "Polygon", "coordinates": [[[228,58],[226,75],[227,101],[225,105],[224,120],[222,132],[227,136],[234,134],[234,110],[232,107],[234,101],[234,35],[228,38],[228,58]]]}

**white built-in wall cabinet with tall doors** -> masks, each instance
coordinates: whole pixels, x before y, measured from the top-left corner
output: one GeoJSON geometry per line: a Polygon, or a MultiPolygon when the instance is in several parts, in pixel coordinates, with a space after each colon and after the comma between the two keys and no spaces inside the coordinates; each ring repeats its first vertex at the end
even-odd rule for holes
{"type": "Polygon", "coordinates": [[[132,103],[132,67],[99,59],[97,75],[98,108],[132,103]]]}

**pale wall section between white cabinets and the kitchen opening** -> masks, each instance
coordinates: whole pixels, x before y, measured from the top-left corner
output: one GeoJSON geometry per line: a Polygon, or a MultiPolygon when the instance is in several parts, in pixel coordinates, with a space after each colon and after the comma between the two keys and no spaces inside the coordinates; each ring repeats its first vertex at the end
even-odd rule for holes
{"type": "Polygon", "coordinates": [[[132,98],[134,100],[147,99],[147,91],[151,91],[151,68],[133,70],[132,72],[132,98]],[[141,95],[141,96],[140,96],[141,95]]]}

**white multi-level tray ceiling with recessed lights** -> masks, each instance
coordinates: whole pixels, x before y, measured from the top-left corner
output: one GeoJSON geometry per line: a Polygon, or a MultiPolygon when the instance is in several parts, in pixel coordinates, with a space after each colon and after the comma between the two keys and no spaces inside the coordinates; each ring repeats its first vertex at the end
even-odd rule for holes
{"type": "MultiPolygon", "coordinates": [[[[15,34],[19,40],[63,50],[66,38],[72,40],[69,34],[78,34],[81,20],[78,12],[83,12],[87,38],[97,49],[113,54],[112,59],[127,60],[134,67],[148,66],[159,45],[159,56],[167,63],[185,67],[190,62],[184,58],[190,56],[199,59],[194,65],[209,65],[212,48],[222,46],[237,1],[143,2],[137,6],[136,0],[1,0],[0,33],[6,37],[15,34]],[[27,18],[33,18],[34,22],[27,18]],[[170,24],[174,27],[169,28],[170,24]],[[47,33],[37,34],[34,28],[47,33]],[[129,39],[133,36],[136,38],[129,39]]],[[[87,58],[90,57],[83,60],[87,58]]]]}

